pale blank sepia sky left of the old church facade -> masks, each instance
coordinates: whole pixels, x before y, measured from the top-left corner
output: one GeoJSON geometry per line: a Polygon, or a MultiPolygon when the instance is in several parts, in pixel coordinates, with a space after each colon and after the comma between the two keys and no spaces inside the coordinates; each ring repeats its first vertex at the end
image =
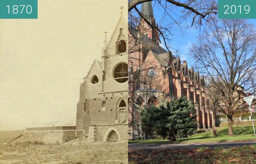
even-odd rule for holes
{"type": "Polygon", "coordinates": [[[79,87],[127,0],[38,0],[37,20],[0,20],[0,130],[75,125],[79,87]]]}

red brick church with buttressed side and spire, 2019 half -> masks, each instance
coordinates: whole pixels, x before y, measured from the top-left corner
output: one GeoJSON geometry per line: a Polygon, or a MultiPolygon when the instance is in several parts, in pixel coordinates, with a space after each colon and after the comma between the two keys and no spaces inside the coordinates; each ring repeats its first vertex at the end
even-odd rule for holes
{"type": "Polygon", "coordinates": [[[158,31],[152,2],[141,4],[144,18],[138,26],[129,24],[128,64],[133,72],[129,79],[129,139],[145,138],[141,131],[140,115],[135,105],[159,104],[172,97],[186,96],[195,103],[197,128],[211,128],[213,113],[210,111],[210,96],[204,86],[204,77],[189,68],[186,61],[171,55],[159,45],[158,31]]]}

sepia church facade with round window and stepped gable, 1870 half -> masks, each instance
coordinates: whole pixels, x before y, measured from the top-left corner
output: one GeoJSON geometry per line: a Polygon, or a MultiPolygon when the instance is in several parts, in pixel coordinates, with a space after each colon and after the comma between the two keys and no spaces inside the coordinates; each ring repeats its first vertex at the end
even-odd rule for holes
{"type": "Polygon", "coordinates": [[[92,142],[127,140],[127,24],[121,14],[110,40],[105,38],[101,61],[94,60],[80,85],[76,130],[84,130],[92,142]]]}

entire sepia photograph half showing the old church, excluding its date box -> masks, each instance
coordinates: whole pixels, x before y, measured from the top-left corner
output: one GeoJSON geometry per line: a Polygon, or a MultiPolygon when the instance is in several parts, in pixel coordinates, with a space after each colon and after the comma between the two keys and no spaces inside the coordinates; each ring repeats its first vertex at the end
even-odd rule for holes
{"type": "Polygon", "coordinates": [[[128,163],[128,4],[38,1],[0,20],[0,163],[128,163]]]}

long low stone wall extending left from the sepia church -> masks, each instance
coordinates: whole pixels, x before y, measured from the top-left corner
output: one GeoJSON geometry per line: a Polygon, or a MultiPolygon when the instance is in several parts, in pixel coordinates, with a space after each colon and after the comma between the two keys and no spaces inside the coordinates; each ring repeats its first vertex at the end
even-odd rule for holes
{"type": "MultiPolygon", "coordinates": [[[[31,130],[31,129],[30,129],[31,130]]],[[[44,144],[58,144],[84,136],[84,130],[45,130],[26,131],[16,141],[43,142],[44,144]]]]}

